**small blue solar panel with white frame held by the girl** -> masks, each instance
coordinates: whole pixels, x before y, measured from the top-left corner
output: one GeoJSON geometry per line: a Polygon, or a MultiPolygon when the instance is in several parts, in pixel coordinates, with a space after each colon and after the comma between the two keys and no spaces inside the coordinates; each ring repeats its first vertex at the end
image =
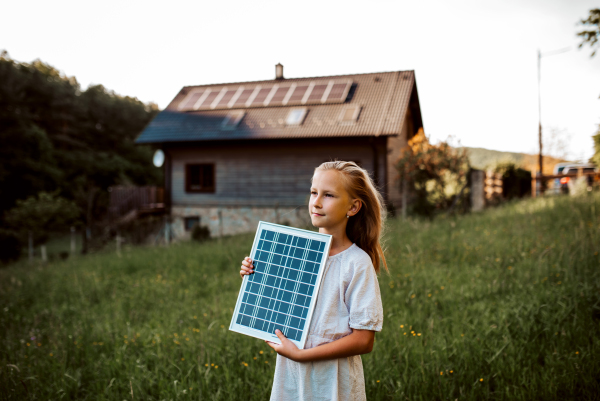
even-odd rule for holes
{"type": "Polygon", "coordinates": [[[280,344],[275,330],[304,349],[331,235],[259,222],[229,330],[280,344]]]}

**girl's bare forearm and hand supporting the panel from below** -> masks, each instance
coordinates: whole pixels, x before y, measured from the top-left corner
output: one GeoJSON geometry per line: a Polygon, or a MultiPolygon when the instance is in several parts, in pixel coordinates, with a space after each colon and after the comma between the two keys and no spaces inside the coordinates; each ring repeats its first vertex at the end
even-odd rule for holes
{"type": "Polygon", "coordinates": [[[319,345],[310,349],[298,349],[296,344],[288,340],[281,331],[275,330],[281,344],[267,341],[279,355],[296,362],[313,362],[326,359],[345,358],[354,355],[368,354],[373,350],[375,332],[371,330],[356,330],[339,340],[319,345]]]}

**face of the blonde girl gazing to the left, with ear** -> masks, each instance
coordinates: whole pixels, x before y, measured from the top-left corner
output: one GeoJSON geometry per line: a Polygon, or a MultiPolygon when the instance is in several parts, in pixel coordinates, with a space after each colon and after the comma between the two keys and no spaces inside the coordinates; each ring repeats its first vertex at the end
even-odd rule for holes
{"type": "Polygon", "coordinates": [[[313,176],[308,211],[315,227],[345,227],[346,216],[353,216],[360,209],[360,201],[351,199],[339,175],[335,170],[325,170],[313,176]]]}

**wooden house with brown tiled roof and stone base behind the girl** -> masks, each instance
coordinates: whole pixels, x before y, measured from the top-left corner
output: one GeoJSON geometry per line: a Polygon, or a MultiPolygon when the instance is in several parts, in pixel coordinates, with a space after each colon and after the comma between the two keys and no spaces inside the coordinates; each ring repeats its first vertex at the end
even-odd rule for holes
{"type": "Polygon", "coordinates": [[[399,208],[401,149],[423,128],[414,71],[283,77],[186,86],[136,143],[165,153],[174,231],[250,232],[259,220],[306,226],[314,168],[333,159],[367,169],[399,208]]]}

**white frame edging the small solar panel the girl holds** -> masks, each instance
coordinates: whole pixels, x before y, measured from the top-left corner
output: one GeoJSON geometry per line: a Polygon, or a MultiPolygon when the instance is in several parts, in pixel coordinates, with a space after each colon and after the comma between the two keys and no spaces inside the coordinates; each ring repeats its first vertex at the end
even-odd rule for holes
{"type": "MultiPolygon", "coordinates": [[[[292,341],[294,344],[296,344],[296,346],[298,348],[304,349],[304,346],[306,345],[306,339],[308,337],[308,332],[310,329],[310,323],[311,323],[312,317],[313,317],[313,312],[314,312],[315,306],[317,304],[319,290],[321,289],[321,283],[323,281],[323,277],[325,274],[325,266],[327,263],[327,259],[329,257],[329,249],[331,248],[332,236],[329,234],[321,234],[321,233],[317,233],[314,231],[302,230],[300,228],[287,227],[287,226],[282,226],[279,224],[260,221],[258,223],[258,227],[256,229],[254,243],[252,244],[252,250],[250,252],[250,255],[252,255],[252,259],[254,259],[254,255],[256,254],[256,248],[258,247],[258,242],[260,241],[260,233],[265,229],[270,229],[272,231],[276,231],[276,232],[283,233],[283,234],[291,234],[291,235],[303,237],[306,239],[314,239],[314,240],[325,242],[325,249],[323,250],[324,257],[321,260],[321,264],[319,266],[319,273],[317,275],[317,281],[315,283],[313,296],[311,297],[310,306],[308,307],[308,313],[306,315],[306,323],[304,325],[304,330],[302,330],[302,338],[300,339],[300,341],[290,339],[290,341],[292,341]]],[[[277,344],[281,344],[281,341],[275,335],[275,333],[269,334],[267,332],[255,330],[253,328],[243,326],[241,324],[236,323],[238,314],[240,312],[240,307],[242,305],[242,298],[244,296],[244,291],[246,290],[246,286],[248,285],[248,283],[249,283],[248,276],[246,275],[246,276],[244,276],[244,279],[242,281],[242,286],[241,286],[240,292],[238,294],[238,299],[235,304],[233,316],[231,317],[231,323],[229,324],[229,330],[235,331],[236,333],[245,334],[247,336],[259,338],[261,340],[266,340],[266,341],[271,341],[271,342],[274,342],[277,344]]]]}

